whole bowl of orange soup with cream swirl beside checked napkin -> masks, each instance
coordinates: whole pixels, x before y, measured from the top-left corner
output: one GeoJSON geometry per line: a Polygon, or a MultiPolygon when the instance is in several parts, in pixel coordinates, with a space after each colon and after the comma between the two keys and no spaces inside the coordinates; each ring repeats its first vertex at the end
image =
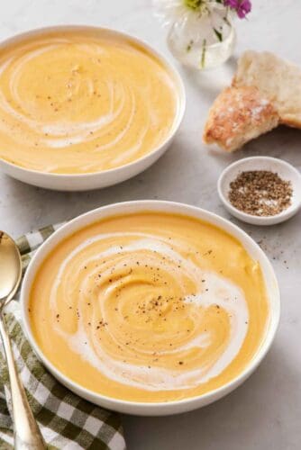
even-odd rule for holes
{"type": "Polygon", "coordinates": [[[111,410],[194,410],[241,384],[274,338],[279,292],[233,223],[175,202],[124,202],[57,230],[27,269],[23,322],[42,363],[111,410]]]}

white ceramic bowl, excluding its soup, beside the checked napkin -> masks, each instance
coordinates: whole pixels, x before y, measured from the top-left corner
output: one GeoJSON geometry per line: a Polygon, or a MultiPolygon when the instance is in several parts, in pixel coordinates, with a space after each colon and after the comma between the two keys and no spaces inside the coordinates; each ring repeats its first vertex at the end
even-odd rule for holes
{"type": "Polygon", "coordinates": [[[262,358],[266,355],[272,340],[275,336],[276,329],[278,327],[279,313],[280,313],[280,301],[278,283],[273,271],[272,266],[269,263],[269,259],[265,256],[261,248],[244,232],[239,229],[233,223],[228,220],[199,208],[188,206],[186,204],[176,202],[160,202],[160,201],[139,201],[139,202],[123,202],[116,203],[110,206],[98,208],[94,211],[89,211],[86,214],[79,216],[77,219],[71,220],[68,224],[58,229],[53,235],[47,239],[47,241],[41,246],[36,255],[33,257],[32,262],[27,268],[25,278],[23,280],[22,293],[21,293],[21,306],[24,329],[27,337],[32,345],[33,350],[40,357],[41,362],[49,369],[60,383],[64,384],[73,392],[76,392],[79,396],[83,397],[87,401],[92,401],[96,405],[103,406],[109,410],[116,410],[123,413],[143,415],[143,416],[163,416],[168,414],[177,414],[179,412],[185,412],[189,410],[196,410],[202,406],[205,406],[213,401],[216,401],[232,392],[237,386],[239,386],[260,364],[262,358]],[[137,211],[165,211],[182,213],[188,216],[192,216],[201,220],[206,220],[214,225],[217,225],[221,229],[224,229],[228,233],[232,234],[235,238],[238,238],[242,245],[247,249],[251,257],[260,262],[260,266],[264,275],[267,292],[269,295],[269,307],[270,307],[270,320],[269,326],[266,331],[266,335],[263,342],[256,354],[253,357],[249,365],[244,369],[242,374],[236,377],[232,382],[224,384],[222,387],[208,392],[205,395],[200,395],[194,398],[188,398],[181,401],[169,401],[169,402],[136,402],[136,401],[122,401],[113,398],[105,397],[96,392],[88,391],[80,386],[78,383],[72,382],[64,374],[61,374],[59,370],[50,363],[50,361],[43,355],[39,345],[32,334],[30,320],[28,316],[28,301],[29,293],[31,291],[32,281],[34,276],[41,266],[44,258],[50,253],[52,248],[56,247],[59,242],[74,233],[77,229],[81,229],[96,220],[102,220],[105,217],[114,214],[123,214],[137,211]]]}

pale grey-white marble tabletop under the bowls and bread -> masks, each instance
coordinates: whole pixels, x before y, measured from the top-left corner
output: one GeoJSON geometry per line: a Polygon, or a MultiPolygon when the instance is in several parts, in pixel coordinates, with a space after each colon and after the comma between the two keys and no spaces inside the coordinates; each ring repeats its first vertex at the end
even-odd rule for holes
{"type": "MultiPolygon", "coordinates": [[[[169,54],[165,31],[152,17],[150,0],[2,3],[0,39],[43,25],[87,23],[131,32],[169,54]]],[[[238,23],[235,57],[247,48],[269,49],[301,65],[296,39],[301,3],[253,0],[253,10],[248,21],[238,23]]],[[[198,77],[180,67],[187,87],[187,114],[178,137],[157,164],[128,182],[90,193],[54,193],[0,175],[0,229],[17,237],[103,204],[145,198],[187,202],[230,218],[216,193],[216,179],[224,166],[240,157],[269,155],[301,169],[298,130],[275,130],[230,156],[214,154],[202,145],[208,106],[234,64],[235,58],[223,69],[198,77]]],[[[222,401],[178,417],[124,417],[130,450],[295,450],[301,446],[301,213],[269,229],[239,225],[261,241],[278,275],[282,317],[275,343],[251,379],[222,401]]]]}

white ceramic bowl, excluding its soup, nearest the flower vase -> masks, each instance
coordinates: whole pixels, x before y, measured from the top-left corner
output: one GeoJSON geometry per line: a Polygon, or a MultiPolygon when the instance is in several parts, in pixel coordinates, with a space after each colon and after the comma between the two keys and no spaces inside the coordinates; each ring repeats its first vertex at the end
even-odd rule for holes
{"type": "MultiPolygon", "coordinates": [[[[111,186],[113,184],[121,183],[134,175],[140,174],[143,170],[150,167],[163,153],[169,148],[175,134],[179,128],[179,125],[183,119],[183,115],[186,108],[186,94],[181,77],[178,75],[178,71],[173,67],[169,61],[164,58],[158,51],[152,49],[145,42],[133,38],[132,36],[114,30],[105,28],[81,26],[81,25],[61,25],[56,27],[41,28],[39,30],[33,30],[18,34],[13,38],[3,41],[0,44],[0,51],[5,49],[6,46],[22,41],[28,36],[39,36],[47,31],[77,31],[77,30],[98,30],[105,33],[113,34],[119,37],[123,37],[127,40],[132,40],[138,43],[142,48],[147,49],[150,54],[158,58],[165,67],[167,67],[174,77],[176,84],[178,85],[178,112],[174,121],[174,124],[169,131],[167,138],[160,144],[158,148],[154,148],[149,154],[141,157],[132,163],[124,166],[116,167],[109,170],[90,174],[50,174],[46,172],[39,172],[35,170],[26,169],[22,166],[14,165],[10,162],[0,158],[0,169],[7,175],[11,175],[17,180],[24,183],[33,184],[35,186],[44,187],[46,189],[52,189],[56,191],[87,191],[91,189],[98,189],[102,187],[111,186]]],[[[1,142],[0,142],[1,145],[1,142]]]]}

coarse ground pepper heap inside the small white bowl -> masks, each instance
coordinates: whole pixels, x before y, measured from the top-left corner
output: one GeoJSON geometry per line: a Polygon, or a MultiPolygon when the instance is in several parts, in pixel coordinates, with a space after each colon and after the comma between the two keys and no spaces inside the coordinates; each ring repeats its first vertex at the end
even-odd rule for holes
{"type": "Polygon", "coordinates": [[[230,183],[229,201],[234,208],[254,216],[274,216],[292,201],[292,184],[268,170],[243,171],[230,183]]]}

